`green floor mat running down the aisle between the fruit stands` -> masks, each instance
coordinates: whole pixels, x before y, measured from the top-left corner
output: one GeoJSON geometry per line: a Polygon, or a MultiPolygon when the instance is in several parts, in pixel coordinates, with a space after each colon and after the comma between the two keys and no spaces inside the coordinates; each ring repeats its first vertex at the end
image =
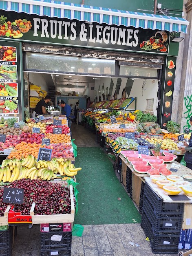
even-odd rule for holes
{"type": "Polygon", "coordinates": [[[81,225],[141,222],[141,216],[117,179],[113,164],[101,148],[78,148],[75,166],[81,225]],[[120,200],[121,199],[121,200],[120,200]]]}

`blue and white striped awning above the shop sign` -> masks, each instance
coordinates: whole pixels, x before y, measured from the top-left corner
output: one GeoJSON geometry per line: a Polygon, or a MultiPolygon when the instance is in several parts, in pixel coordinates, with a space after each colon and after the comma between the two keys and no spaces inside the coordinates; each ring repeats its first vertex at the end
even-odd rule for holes
{"type": "Polygon", "coordinates": [[[154,15],[134,11],[93,7],[53,0],[0,0],[0,9],[46,15],[49,17],[77,19],[80,21],[141,27],[187,33],[189,22],[183,18],[166,15],[154,15]]]}

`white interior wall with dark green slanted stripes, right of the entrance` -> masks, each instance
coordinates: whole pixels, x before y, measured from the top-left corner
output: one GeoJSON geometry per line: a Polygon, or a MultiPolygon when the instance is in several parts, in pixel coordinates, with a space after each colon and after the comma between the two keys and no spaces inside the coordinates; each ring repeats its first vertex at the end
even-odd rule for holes
{"type": "MultiPolygon", "coordinates": [[[[114,83],[113,92],[112,92],[112,97],[113,97],[115,93],[116,84],[117,84],[117,78],[112,78],[112,79],[114,83]]],[[[122,81],[121,81],[121,86],[118,94],[118,99],[121,98],[122,92],[126,87],[126,82],[127,82],[127,78],[121,78],[121,79],[122,81]]],[[[153,110],[150,110],[150,111],[153,111],[154,115],[157,115],[158,80],[146,79],[144,90],[142,90],[143,80],[144,79],[139,79],[139,78],[135,79],[133,82],[130,95],[126,95],[126,97],[137,97],[137,109],[142,111],[146,111],[146,99],[154,99],[153,110]]],[[[101,93],[99,93],[99,90],[98,90],[99,85],[100,85],[100,88],[102,89],[102,86],[104,83],[104,88],[106,89],[106,87],[108,87],[108,90],[109,90],[110,82],[111,82],[111,78],[108,78],[108,77],[95,79],[95,89],[97,92],[98,101],[99,101],[99,95],[101,95],[101,100],[103,99],[102,91],[101,93]]]]}

